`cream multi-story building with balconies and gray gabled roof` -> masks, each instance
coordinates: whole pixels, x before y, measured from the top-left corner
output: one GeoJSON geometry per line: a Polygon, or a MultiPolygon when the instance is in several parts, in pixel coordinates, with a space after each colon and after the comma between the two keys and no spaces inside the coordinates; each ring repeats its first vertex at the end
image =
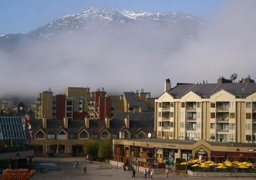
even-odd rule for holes
{"type": "Polygon", "coordinates": [[[164,84],[155,102],[158,138],[256,142],[256,83],[224,78],[216,84],[164,84]]]}

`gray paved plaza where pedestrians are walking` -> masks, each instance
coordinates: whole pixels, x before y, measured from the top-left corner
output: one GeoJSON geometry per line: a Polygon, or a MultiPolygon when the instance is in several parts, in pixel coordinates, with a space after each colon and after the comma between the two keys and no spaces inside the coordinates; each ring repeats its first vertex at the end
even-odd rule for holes
{"type": "MultiPolygon", "coordinates": [[[[56,163],[57,171],[56,172],[46,172],[44,174],[36,172],[33,176],[33,180],[46,180],[46,179],[97,179],[97,180],[110,180],[110,179],[132,179],[132,172],[123,171],[120,168],[104,164],[104,163],[88,163],[84,158],[81,157],[70,157],[70,158],[35,158],[35,164],[37,163],[56,163]],[[73,167],[74,162],[78,161],[79,167],[75,169],[73,167]],[[87,174],[83,174],[84,164],[87,167],[87,174]]],[[[154,174],[153,179],[246,179],[246,180],[256,180],[253,177],[191,177],[187,174],[169,174],[169,177],[166,178],[164,174],[154,174]]],[[[136,179],[145,179],[142,172],[136,172],[136,179]]]]}

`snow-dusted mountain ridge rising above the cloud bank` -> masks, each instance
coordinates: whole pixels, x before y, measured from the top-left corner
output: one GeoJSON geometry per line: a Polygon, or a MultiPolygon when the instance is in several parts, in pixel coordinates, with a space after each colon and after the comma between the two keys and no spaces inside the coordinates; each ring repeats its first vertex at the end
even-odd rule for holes
{"type": "Polygon", "coordinates": [[[90,7],[74,15],[60,17],[28,33],[0,34],[0,49],[13,50],[18,45],[29,45],[31,40],[52,40],[61,33],[72,34],[102,28],[109,32],[116,32],[117,28],[119,33],[130,29],[152,34],[163,33],[164,29],[172,36],[193,37],[204,24],[204,20],[188,13],[148,13],[90,7]]]}

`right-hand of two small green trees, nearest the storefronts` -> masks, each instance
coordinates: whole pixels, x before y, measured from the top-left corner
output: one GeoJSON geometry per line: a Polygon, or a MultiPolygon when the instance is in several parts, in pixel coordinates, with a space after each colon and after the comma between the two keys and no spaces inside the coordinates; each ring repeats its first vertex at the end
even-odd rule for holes
{"type": "Polygon", "coordinates": [[[99,158],[108,160],[112,157],[113,154],[113,145],[112,140],[108,140],[107,142],[100,142],[98,156],[99,158]]]}

